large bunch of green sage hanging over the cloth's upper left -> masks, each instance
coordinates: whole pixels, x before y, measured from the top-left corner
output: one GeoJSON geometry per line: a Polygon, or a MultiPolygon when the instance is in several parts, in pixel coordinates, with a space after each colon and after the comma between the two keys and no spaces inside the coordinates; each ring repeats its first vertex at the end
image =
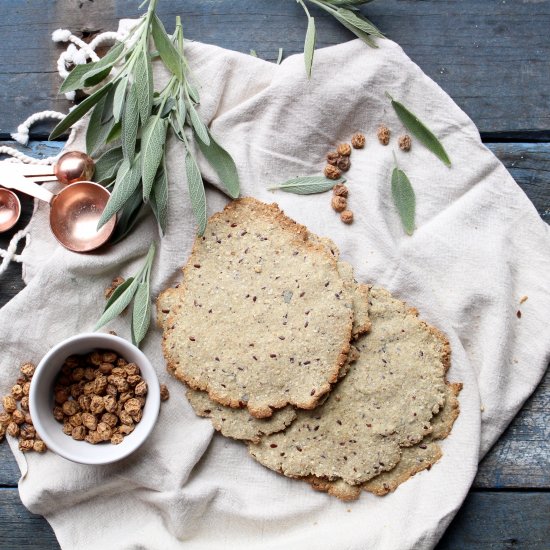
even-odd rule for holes
{"type": "Polygon", "coordinates": [[[97,159],[95,179],[112,188],[98,228],[117,215],[114,242],[131,231],[145,204],[151,207],[161,232],[166,230],[168,174],[165,149],[169,129],[184,143],[186,158],[191,159],[186,163],[187,175],[192,177],[192,180],[188,177],[188,185],[199,234],[206,223],[206,195],[190,146],[193,136],[220,176],[227,194],[232,198],[239,196],[235,163],[213,138],[197,111],[199,93],[191,82],[181,21],[177,19],[176,32],[169,36],[156,15],[157,2],[144,2],[148,3],[147,12],[128,38],[115,43],[101,60],[79,65],[71,71],[61,87],[63,92],[96,86],[107,77],[111,80],[103,82],[73,109],[50,136],[52,139],[60,136],[91,111],[86,132],[87,152],[92,156],[103,152],[97,159]],[[150,49],[152,43],[155,50],[150,49]],[[158,92],[154,91],[154,57],[160,57],[172,73],[168,84],[158,92]],[[111,143],[111,148],[105,151],[105,146],[111,143]]]}

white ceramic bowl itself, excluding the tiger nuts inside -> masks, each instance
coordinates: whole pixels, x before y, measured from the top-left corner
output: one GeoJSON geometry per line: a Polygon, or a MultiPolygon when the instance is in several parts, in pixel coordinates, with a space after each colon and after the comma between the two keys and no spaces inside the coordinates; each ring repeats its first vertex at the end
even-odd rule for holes
{"type": "Polygon", "coordinates": [[[109,464],[134,452],[151,433],[160,408],[160,387],[157,375],[147,357],[134,345],[111,334],[88,333],[63,340],[40,361],[31,383],[29,410],[38,435],[49,449],[81,464],[109,464]],[[89,353],[96,349],[112,350],[129,363],[136,363],[147,382],[148,392],[143,417],[135,430],[119,445],[109,442],[92,445],[65,435],[62,424],[53,417],[53,387],[61,366],[70,355],[89,353]]]}

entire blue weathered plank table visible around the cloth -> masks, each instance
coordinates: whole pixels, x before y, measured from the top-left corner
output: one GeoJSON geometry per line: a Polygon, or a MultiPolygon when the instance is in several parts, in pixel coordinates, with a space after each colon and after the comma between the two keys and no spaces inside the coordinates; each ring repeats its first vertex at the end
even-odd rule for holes
{"type": "MultiPolygon", "coordinates": [[[[50,36],[115,30],[138,15],[137,0],[0,0],[0,140],[33,112],[66,111],[50,36]]],[[[550,222],[550,0],[379,0],[372,20],[396,40],[477,124],[483,141],[550,222]]],[[[169,28],[181,14],[188,38],[274,60],[301,51],[306,20],[293,0],[160,0],[169,28]]],[[[350,34],[319,13],[318,45],[350,34]]],[[[37,156],[54,154],[48,128],[32,132],[37,156]]],[[[14,229],[29,219],[25,215],[14,229]]],[[[12,232],[13,233],[13,232],[12,232]]],[[[11,234],[0,236],[5,247],[11,234]]],[[[23,287],[14,265],[0,279],[0,306],[23,287]]],[[[0,335],[1,339],[1,335],[0,335]]],[[[1,340],[0,340],[1,341],[1,340]]],[[[480,465],[464,506],[439,549],[548,548],[550,543],[550,378],[546,376],[480,465]]],[[[19,500],[19,471],[0,446],[0,548],[58,548],[43,518],[19,500]]]]}

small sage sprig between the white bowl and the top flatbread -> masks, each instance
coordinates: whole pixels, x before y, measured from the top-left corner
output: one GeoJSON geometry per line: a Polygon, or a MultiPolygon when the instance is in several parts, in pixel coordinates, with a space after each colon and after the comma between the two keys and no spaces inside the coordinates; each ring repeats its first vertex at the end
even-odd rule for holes
{"type": "Polygon", "coordinates": [[[155,244],[151,243],[145,258],[145,263],[133,277],[128,277],[113,292],[105,305],[103,314],[96,323],[94,330],[110,323],[118,317],[133,301],[132,309],[132,341],[139,346],[149,329],[151,322],[151,266],[155,257],[155,244]]]}

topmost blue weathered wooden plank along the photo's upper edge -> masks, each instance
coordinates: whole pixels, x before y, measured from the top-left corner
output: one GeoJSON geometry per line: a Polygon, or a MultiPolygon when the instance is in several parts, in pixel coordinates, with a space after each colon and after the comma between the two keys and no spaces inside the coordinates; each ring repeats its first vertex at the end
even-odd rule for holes
{"type": "MultiPolygon", "coordinates": [[[[66,111],[57,94],[51,42],[57,28],[116,30],[139,15],[137,0],[1,0],[0,138],[28,115],[66,111]],[[17,106],[17,108],[14,108],[17,106]]],[[[550,0],[379,0],[365,12],[476,121],[487,136],[550,137],[550,0]]],[[[168,28],[182,15],[186,36],[274,60],[303,47],[306,20],[294,0],[161,1],[168,28]]],[[[352,35],[312,7],[318,46],[352,35]]],[[[35,135],[44,135],[37,128],[35,135]]]]}

